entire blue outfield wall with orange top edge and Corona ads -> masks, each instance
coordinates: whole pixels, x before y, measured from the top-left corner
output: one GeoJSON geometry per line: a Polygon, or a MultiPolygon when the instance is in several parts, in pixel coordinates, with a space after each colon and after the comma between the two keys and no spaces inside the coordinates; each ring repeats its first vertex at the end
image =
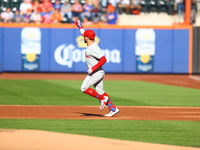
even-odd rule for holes
{"type": "MultiPolygon", "coordinates": [[[[86,45],[74,25],[1,26],[0,70],[86,72],[86,45]]],[[[190,27],[88,28],[105,52],[108,73],[190,73],[190,27]]]]}

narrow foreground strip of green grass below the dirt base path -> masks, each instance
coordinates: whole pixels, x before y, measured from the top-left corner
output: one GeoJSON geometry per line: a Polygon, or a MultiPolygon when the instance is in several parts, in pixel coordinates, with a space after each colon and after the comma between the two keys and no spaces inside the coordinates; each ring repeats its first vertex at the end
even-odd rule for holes
{"type": "Polygon", "coordinates": [[[3,129],[38,129],[193,147],[200,147],[199,126],[199,121],[0,119],[3,129]]]}

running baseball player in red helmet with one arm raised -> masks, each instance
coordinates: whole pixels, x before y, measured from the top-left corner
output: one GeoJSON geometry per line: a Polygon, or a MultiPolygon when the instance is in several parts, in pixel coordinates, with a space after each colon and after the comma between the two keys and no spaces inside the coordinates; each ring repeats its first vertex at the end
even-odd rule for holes
{"type": "Polygon", "coordinates": [[[99,110],[103,110],[105,105],[108,106],[110,112],[104,116],[112,117],[119,113],[119,109],[112,103],[110,97],[103,89],[103,78],[105,72],[102,66],[106,63],[106,57],[103,51],[95,43],[95,32],[93,30],[84,30],[80,20],[75,19],[74,24],[79,28],[84,42],[87,44],[85,51],[85,59],[88,67],[88,75],[84,79],[81,85],[81,91],[92,97],[99,99],[100,107],[99,110]],[[94,89],[90,88],[94,86],[94,89]]]}

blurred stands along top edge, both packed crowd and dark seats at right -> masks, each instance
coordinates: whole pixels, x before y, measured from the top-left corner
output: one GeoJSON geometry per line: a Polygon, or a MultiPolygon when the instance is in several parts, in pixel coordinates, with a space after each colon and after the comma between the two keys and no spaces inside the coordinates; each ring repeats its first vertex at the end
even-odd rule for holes
{"type": "MultiPolygon", "coordinates": [[[[195,22],[196,0],[191,0],[195,22]]],[[[164,12],[184,16],[185,0],[1,0],[0,21],[4,23],[72,23],[117,24],[118,15],[139,15],[141,12],[164,12]]],[[[193,15],[193,16],[192,16],[193,15]]]]}

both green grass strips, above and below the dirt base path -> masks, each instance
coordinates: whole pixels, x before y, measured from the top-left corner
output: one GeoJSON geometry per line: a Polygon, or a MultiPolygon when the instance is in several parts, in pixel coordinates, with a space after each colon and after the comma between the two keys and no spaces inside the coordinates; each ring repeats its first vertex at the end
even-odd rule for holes
{"type": "MultiPolygon", "coordinates": [[[[99,105],[82,81],[0,80],[1,105],[99,105]]],[[[200,90],[141,81],[105,81],[117,106],[200,107],[200,90]]],[[[200,121],[0,119],[3,129],[39,129],[114,139],[200,147],[200,121]]]]}

